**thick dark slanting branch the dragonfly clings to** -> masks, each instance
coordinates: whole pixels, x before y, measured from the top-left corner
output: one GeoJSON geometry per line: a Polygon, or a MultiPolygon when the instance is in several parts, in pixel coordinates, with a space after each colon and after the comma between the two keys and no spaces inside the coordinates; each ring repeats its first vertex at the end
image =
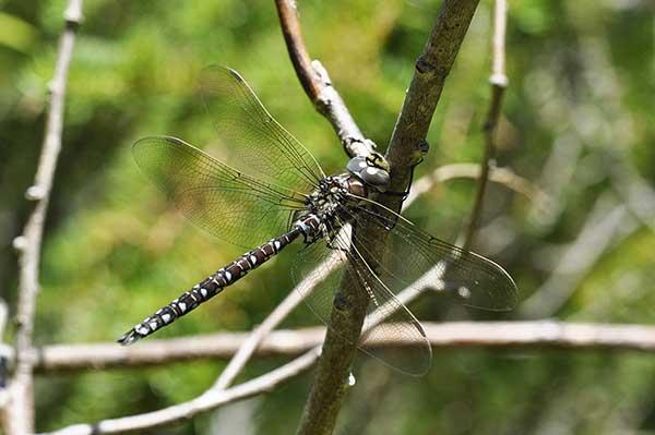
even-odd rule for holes
{"type": "MultiPolygon", "coordinates": [[[[420,161],[426,152],[425,138],[432,114],[477,4],[478,0],[444,0],[441,4],[432,32],[416,62],[415,74],[386,153],[391,165],[392,192],[405,190],[413,166],[420,161]]],[[[402,205],[398,195],[382,195],[378,200],[395,209],[402,205]]],[[[385,234],[373,233],[370,228],[355,228],[354,231],[361,231],[360,240],[367,240],[367,253],[382,255],[385,234]]],[[[353,282],[343,282],[337,291],[317,376],[298,434],[331,434],[334,430],[368,304],[368,297],[360,293],[361,289],[353,282]]]]}

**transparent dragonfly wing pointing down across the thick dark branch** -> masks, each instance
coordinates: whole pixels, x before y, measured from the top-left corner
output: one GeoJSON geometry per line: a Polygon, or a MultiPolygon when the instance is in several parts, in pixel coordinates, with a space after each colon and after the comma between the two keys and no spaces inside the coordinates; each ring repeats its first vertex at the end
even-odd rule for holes
{"type": "MultiPolygon", "coordinates": [[[[359,294],[369,299],[367,321],[358,339],[358,348],[405,374],[420,376],[428,371],[432,351],[420,323],[350,245],[348,231],[334,235],[331,242],[320,240],[301,250],[294,264],[293,275],[297,282],[307,278],[315,281],[313,291],[305,294],[305,300],[327,326],[335,291],[344,280],[348,280],[359,294]],[[367,330],[369,326],[374,327],[367,330]],[[403,342],[404,346],[396,350],[380,347],[382,342],[389,341],[403,342]]],[[[298,288],[301,292],[307,291],[307,287],[298,288]]],[[[350,340],[347,337],[343,339],[350,340]]]]}

